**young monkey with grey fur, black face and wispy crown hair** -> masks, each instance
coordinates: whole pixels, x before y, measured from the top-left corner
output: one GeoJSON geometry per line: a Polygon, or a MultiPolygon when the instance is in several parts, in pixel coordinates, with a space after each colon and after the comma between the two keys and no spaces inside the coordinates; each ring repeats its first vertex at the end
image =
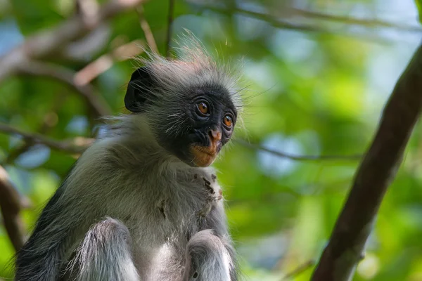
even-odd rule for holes
{"type": "Polygon", "coordinates": [[[238,280],[209,167],[241,110],[238,79],[193,45],[135,70],[131,114],[113,117],[46,204],[15,280],[238,280]]]}

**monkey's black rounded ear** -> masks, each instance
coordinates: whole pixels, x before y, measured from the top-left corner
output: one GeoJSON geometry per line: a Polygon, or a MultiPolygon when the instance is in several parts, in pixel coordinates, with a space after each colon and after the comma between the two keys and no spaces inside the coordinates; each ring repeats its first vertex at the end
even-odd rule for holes
{"type": "Polygon", "coordinates": [[[143,105],[151,99],[153,79],[146,67],[139,67],[132,73],[127,85],[124,106],[132,112],[143,112],[143,105]]]}

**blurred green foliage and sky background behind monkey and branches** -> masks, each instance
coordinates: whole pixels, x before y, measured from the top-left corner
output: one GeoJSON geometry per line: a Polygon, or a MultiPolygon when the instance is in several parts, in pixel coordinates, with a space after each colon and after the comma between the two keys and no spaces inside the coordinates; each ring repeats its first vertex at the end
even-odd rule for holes
{"type": "MultiPolygon", "coordinates": [[[[0,0],[0,56],[105,3],[0,0]]],[[[309,280],[359,155],[420,43],[413,0],[145,1],[4,79],[0,122],[45,138],[0,127],[0,164],[21,195],[25,232],[77,159],[75,145],[96,135],[101,115],[124,112],[129,57],[154,41],[167,52],[169,22],[172,39],[191,30],[210,53],[243,60],[244,126],[215,166],[245,280],[309,280]]],[[[421,129],[354,280],[422,280],[421,129]]],[[[0,224],[0,279],[13,276],[13,254],[0,224]]]]}

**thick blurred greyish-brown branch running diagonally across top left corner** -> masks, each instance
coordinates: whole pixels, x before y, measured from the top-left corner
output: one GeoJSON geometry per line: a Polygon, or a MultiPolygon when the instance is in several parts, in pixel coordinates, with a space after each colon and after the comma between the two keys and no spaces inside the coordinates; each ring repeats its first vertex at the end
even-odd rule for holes
{"type": "Polygon", "coordinates": [[[0,58],[0,82],[18,70],[27,60],[44,58],[57,51],[68,42],[88,34],[101,22],[141,4],[143,0],[110,0],[98,9],[92,17],[94,20],[84,20],[84,15],[77,14],[53,29],[39,32],[25,40],[20,46],[13,48],[0,58]]]}

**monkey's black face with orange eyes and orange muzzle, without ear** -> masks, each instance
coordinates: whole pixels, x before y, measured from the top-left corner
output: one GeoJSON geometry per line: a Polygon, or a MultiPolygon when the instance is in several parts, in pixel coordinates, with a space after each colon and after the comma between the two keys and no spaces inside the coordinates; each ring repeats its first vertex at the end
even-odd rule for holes
{"type": "Polygon", "coordinates": [[[183,110],[170,115],[178,117],[177,126],[169,122],[160,141],[186,164],[209,166],[230,140],[237,111],[229,93],[219,86],[196,87],[188,97],[179,100],[183,110]]]}

